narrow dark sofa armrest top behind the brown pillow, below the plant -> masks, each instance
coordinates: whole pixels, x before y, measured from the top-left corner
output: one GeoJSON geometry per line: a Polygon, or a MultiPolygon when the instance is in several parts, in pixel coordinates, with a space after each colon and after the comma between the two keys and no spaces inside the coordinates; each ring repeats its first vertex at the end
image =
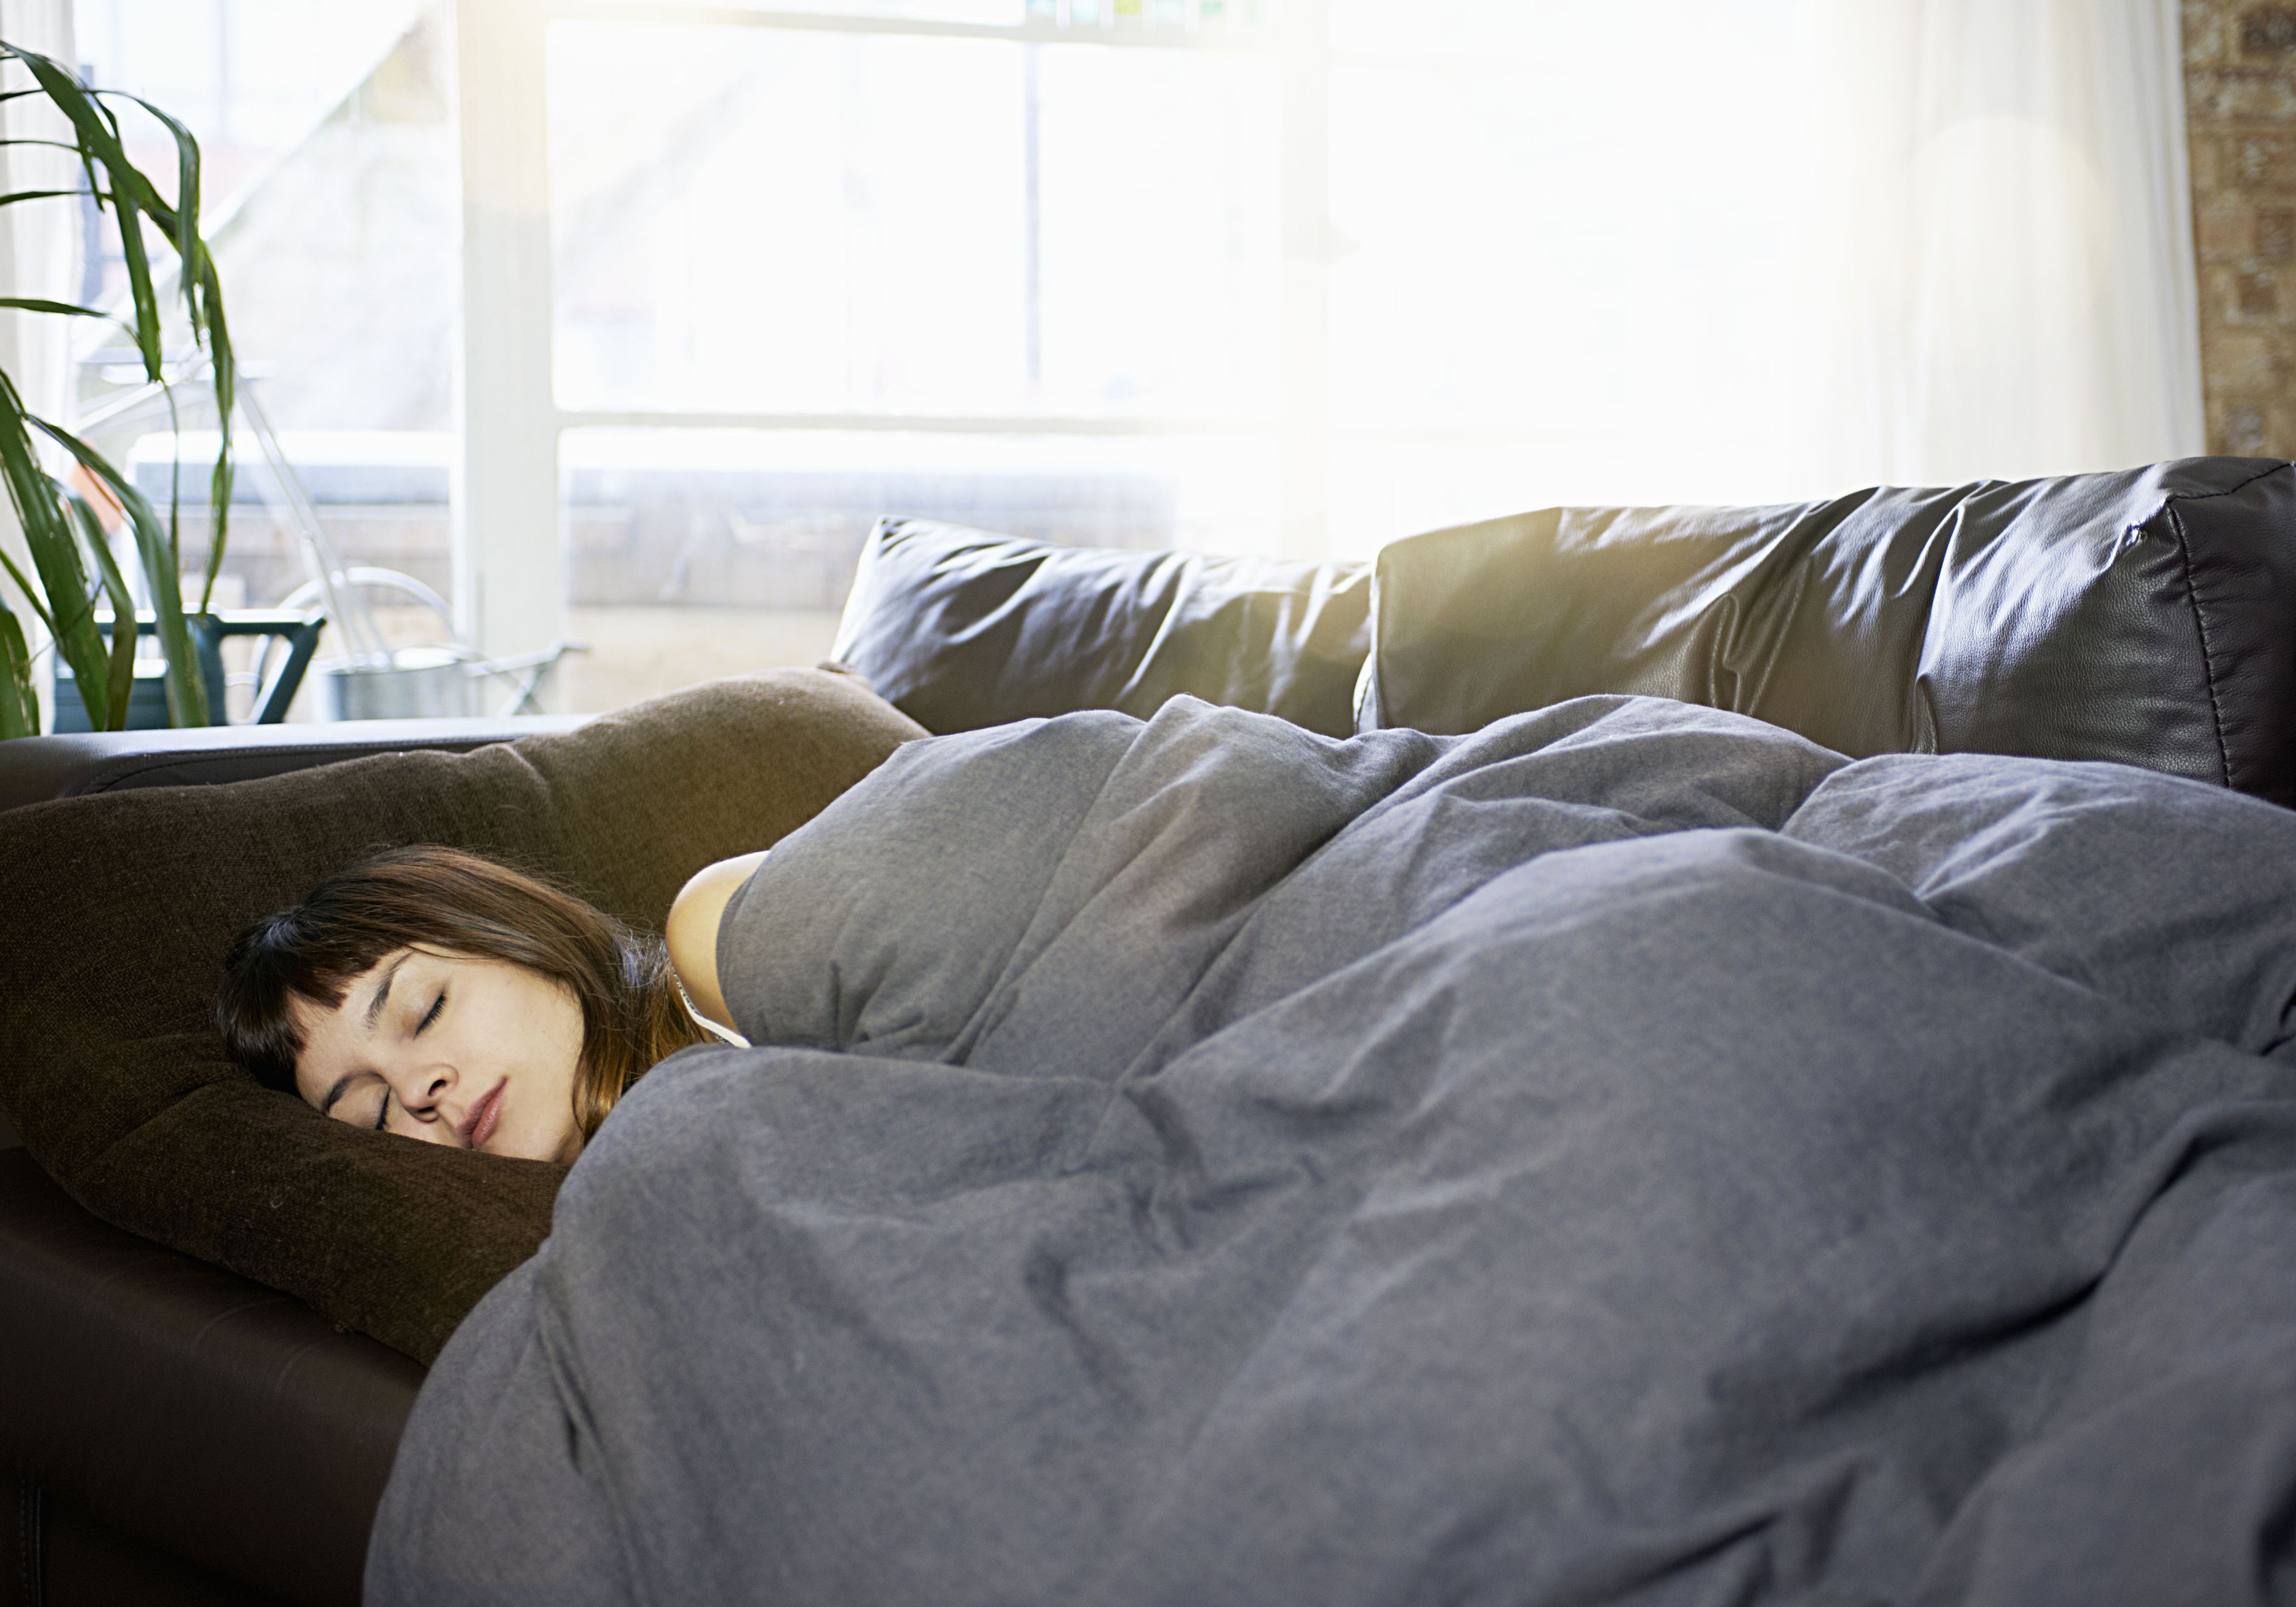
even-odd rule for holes
{"type": "Polygon", "coordinates": [[[80,792],[195,787],[253,781],[370,753],[466,753],[544,730],[574,730],[579,714],[468,721],[340,721],[333,725],[191,725],[101,730],[0,742],[0,810],[80,792]]]}

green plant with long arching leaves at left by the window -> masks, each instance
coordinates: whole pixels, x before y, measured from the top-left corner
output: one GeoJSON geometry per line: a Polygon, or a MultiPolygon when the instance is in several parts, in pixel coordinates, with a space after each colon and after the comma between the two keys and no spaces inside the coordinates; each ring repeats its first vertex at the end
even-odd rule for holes
{"type": "MultiPolygon", "coordinates": [[[[16,191],[0,195],[0,207],[48,200],[55,195],[92,195],[119,232],[119,255],[126,259],[129,308],[117,321],[135,342],[145,376],[168,386],[179,379],[163,360],[161,296],[152,271],[152,248],[161,243],[177,257],[177,292],[191,321],[191,340],[204,360],[214,386],[216,416],[232,418],[239,370],[232,360],[232,337],[223,319],[223,287],[216,262],[200,239],[200,142],[191,131],[142,101],[87,87],[62,64],[0,41],[0,62],[14,60],[30,73],[30,87],[7,96],[44,96],[64,124],[69,140],[9,140],[11,145],[53,145],[78,156],[85,191],[16,191]],[[119,117],[106,103],[122,99],[156,117],[174,138],[174,202],[129,161],[119,117]],[[149,230],[149,234],[147,234],[149,230]]],[[[96,308],[34,296],[0,296],[0,308],[53,317],[110,319],[96,308]]],[[[197,615],[209,615],[216,574],[223,567],[232,503],[230,427],[220,432],[216,468],[209,482],[209,539],[197,615]]],[[[211,707],[211,689],[200,673],[193,643],[193,618],[184,608],[184,551],[179,539],[179,498],[170,491],[165,519],[124,473],[101,452],[62,425],[25,409],[16,381],[0,372],[0,480],[23,528],[32,572],[25,574],[0,551],[9,579],[39,615],[55,641],[55,652],[71,670],[87,723],[94,730],[119,730],[129,716],[129,693],[135,686],[135,592],[103,533],[103,517],[87,491],[99,491],[117,505],[135,537],[135,562],[152,599],[152,629],[165,661],[168,719],[174,725],[207,725],[220,709],[211,707]],[[62,473],[57,473],[62,471],[62,473]],[[78,475],[73,475],[78,471],[78,475]],[[78,478],[78,487],[73,484],[78,478]],[[99,601],[110,604],[110,641],[99,620],[99,601]]],[[[23,622],[0,601],[0,739],[39,732],[39,700],[32,682],[32,654],[23,622]]]]}

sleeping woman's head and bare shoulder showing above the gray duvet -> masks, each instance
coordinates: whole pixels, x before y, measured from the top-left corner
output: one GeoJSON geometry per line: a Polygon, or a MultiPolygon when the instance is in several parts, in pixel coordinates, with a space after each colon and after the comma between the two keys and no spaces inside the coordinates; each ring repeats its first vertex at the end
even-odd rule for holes
{"type": "Polygon", "coordinates": [[[333,1120],[572,1162],[650,1065],[709,1040],[696,1012],[730,1019],[716,925],[762,859],[693,877],[664,941],[478,854],[377,854],[239,934],[216,1022],[333,1120]]]}

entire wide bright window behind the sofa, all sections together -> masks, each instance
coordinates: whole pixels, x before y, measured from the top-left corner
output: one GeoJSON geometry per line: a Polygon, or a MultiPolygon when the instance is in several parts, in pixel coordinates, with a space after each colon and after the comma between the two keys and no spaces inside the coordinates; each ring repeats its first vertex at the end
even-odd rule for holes
{"type": "MultiPolygon", "coordinates": [[[[209,145],[338,546],[489,652],[585,643],[563,707],[820,657],[886,512],[1364,556],[1802,489],[1793,0],[78,16],[209,145]]],[[[92,351],[90,404],[122,376],[92,351]]],[[[227,597],[298,579],[250,471],[227,597]]]]}

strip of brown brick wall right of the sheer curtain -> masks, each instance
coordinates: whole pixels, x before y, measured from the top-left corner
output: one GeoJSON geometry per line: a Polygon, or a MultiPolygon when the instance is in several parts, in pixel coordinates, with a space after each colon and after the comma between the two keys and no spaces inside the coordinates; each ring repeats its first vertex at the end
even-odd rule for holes
{"type": "Polygon", "coordinates": [[[2296,457],[2296,5],[2183,0],[2209,450],[2296,457]]]}

